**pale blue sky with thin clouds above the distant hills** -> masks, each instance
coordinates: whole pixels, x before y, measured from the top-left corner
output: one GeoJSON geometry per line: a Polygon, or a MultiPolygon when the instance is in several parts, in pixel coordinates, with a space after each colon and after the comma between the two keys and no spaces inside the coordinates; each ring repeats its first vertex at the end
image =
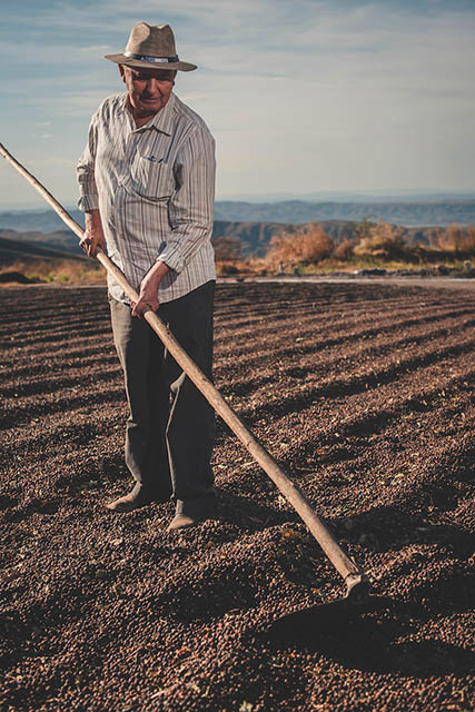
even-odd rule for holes
{"type": "MultiPolygon", "coordinates": [[[[2,0],[0,141],[63,205],[132,24],[169,23],[217,198],[475,191],[475,0],[2,0]]],[[[44,205],[0,162],[0,209],[44,205]]]]}

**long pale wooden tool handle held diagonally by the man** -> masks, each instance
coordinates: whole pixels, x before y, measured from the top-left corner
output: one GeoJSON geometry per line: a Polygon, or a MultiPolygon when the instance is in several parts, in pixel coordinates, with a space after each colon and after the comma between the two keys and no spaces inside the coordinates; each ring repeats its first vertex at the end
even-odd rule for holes
{"type": "MultiPolygon", "coordinates": [[[[62,220],[70,229],[80,238],[83,237],[83,230],[76,220],[65,210],[65,208],[56,200],[56,198],[32,176],[21,164],[19,164],[7,149],[0,144],[0,154],[11,164],[27,180],[40,192],[44,200],[58,212],[62,220]]],[[[121,286],[131,301],[138,301],[139,295],[129,285],[121,270],[109,259],[109,257],[99,250],[97,259],[113,276],[121,286]]],[[[253,455],[257,463],[267,473],[270,479],[280,490],[287,502],[289,502],[311,534],[315,536],[325,554],[328,556],[338,573],[345,578],[347,584],[347,593],[349,594],[358,584],[366,582],[366,576],[362,568],[353,562],[343,551],[325,522],[313,510],[308,500],[301,491],[287,477],[280,469],[274,457],[269,455],[266,448],[257,441],[249,428],[243,423],[240,417],[224,399],[219,390],[198,368],[195,362],[181,348],[168,326],[151,309],[142,312],[144,318],[150,324],[154,332],[160,337],[167,349],[174,356],[175,360],[181,366],[187,376],[192,380],[197,388],[202,393],[206,399],[212,405],[216,413],[221,416],[225,423],[237,435],[246,449],[253,455]]]]}

